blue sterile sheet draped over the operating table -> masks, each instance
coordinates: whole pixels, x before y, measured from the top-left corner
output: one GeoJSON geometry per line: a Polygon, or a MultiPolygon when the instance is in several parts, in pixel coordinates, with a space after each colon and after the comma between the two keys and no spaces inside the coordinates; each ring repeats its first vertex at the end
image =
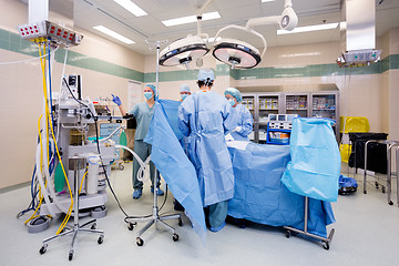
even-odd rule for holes
{"type": "MultiPolygon", "coordinates": [[[[305,197],[289,192],[280,178],[290,161],[289,146],[249,143],[228,147],[235,194],[228,215],[272,226],[304,229],[305,197]]],[[[309,198],[308,232],[326,237],[335,217],[330,203],[309,198]]]]}

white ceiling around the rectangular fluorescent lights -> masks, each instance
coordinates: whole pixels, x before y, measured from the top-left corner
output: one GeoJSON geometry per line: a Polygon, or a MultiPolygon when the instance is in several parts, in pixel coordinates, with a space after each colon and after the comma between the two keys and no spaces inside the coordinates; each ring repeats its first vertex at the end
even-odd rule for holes
{"type": "MultiPolygon", "coordinates": [[[[166,39],[168,42],[173,42],[187,34],[196,33],[196,23],[168,28],[161,23],[162,20],[197,14],[200,8],[206,2],[206,0],[133,1],[149,14],[134,17],[113,0],[50,0],[50,9],[63,11],[65,14],[65,10],[71,10],[65,6],[73,6],[74,27],[85,29],[139,53],[151,54],[153,51],[150,51],[145,40],[166,39]],[[93,29],[99,24],[105,25],[136,43],[127,45],[109,38],[93,29]]],[[[341,0],[293,0],[294,10],[299,18],[298,27],[340,21],[340,2],[341,0]]],[[[398,0],[376,0],[376,4],[377,35],[383,34],[390,28],[399,27],[398,0]]],[[[203,21],[203,32],[213,37],[218,29],[228,24],[245,25],[250,18],[279,16],[283,8],[284,0],[266,3],[262,3],[260,0],[213,0],[205,12],[218,11],[222,18],[203,21]]],[[[254,30],[265,37],[268,47],[339,40],[338,29],[285,35],[277,35],[277,25],[255,27],[254,30]]],[[[247,40],[247,42],[250,41],[255,40],[247,40]]]]}

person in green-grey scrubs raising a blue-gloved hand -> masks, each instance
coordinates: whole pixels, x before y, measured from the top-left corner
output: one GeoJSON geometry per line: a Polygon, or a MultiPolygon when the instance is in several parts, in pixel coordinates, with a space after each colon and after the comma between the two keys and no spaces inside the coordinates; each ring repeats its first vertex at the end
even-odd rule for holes
{"type": "MultiPolygon", "coordinates": [[[[157,100],[156,89],[152,84],[146,84],[144,88],[144,98],[145,101],[137,103],[133,106],[129,113],[124,110],[121,100],[119,96],[112,95],[112,101],[120,108],[121,114],[133,114],[137,121],[137,129],[134,135],[134,149],[133,151],[139,155],[139,157],[144,162],[151,155],[151,144],[145,143],[144,139],[150,129],[150,122],[154,116],[154,104],[157,100]]],[[[143,194],[143,182],[137,180],[137,172],[140,164],[136,158],[133,157],[133,198],[139,200],[143,194]]],[[[151,175],[151,192],[154,193],[154,177],[155,177],[155,165],[150,161],[150,175],[151,175]]],[[[160,186],[160,183],[157,184],[160,186]]],[[[163,195],[164,192],[158,188],[157,195],[163,195]]]]}

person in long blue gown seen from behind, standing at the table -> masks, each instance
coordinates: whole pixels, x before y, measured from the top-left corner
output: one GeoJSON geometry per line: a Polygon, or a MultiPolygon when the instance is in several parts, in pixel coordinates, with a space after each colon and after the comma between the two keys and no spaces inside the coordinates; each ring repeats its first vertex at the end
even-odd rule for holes
{"type": "Polygon", "coordinates": [[[200,91],[187,96],[178,108],[178,127],[191,136],[187,153],[194,164],[203,205],[208,206],[212,232],[225,226],[227,200],[234,195],[232,160],[225,133],[235,127],[227,100],[211,91],[213,70],[200,70],[200,91]]]}

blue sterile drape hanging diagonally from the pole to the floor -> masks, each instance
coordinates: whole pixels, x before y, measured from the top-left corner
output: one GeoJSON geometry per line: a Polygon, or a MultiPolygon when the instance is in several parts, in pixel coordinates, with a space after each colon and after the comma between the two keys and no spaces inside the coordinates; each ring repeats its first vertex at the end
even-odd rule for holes
{"type": "Polygon", "coordinates": [[[180,130],[174,127],[177,126],[174,123],[177,121],[176,103],[178,102],[156,101],[154,117],[144,142],[152,144],[151,161],[166,181],[174,197],[185,208],[193,229],[205,242],[205,215],[196,172],[177,140],[180,130]]]}

